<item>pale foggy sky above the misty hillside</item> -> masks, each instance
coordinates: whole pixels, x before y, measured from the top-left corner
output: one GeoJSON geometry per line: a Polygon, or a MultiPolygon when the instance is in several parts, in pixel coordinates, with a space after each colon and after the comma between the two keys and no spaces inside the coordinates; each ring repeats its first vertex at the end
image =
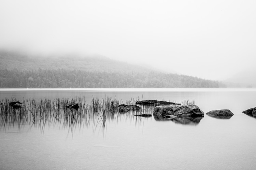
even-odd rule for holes
{"type": "Polygon", "coordinates": [[[222,80],[255,67],[255,0],[0,0],[0,47],[222,80]]]}

